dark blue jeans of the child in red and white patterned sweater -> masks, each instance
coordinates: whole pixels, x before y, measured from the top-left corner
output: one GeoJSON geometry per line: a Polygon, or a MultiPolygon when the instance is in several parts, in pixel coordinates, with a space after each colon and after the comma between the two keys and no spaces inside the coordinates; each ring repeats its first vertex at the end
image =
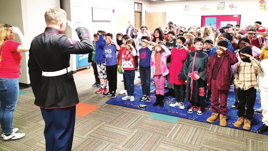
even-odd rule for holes
{"type": "Polygon", "coordinates": [[[126,87],[129,96],[134,96],[134,79],[135,71],[134,70],[125,70],[124,71],[126,87]]]}

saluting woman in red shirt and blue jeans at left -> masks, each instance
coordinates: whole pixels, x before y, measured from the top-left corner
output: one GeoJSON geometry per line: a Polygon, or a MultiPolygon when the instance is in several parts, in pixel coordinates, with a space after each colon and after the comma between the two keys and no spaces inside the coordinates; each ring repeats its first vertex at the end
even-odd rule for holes
{"type": "Polygon", "coordinates": [[[12,128],[13,111],[19,94],[20,52],[29,50],[29,45],[18,27],[0,24],[0,124],[1,140],[10,141],[23,138],[25,133],[16,133],[12,128]],[[14,34],[21,41],[14,40],[14,34]]]}

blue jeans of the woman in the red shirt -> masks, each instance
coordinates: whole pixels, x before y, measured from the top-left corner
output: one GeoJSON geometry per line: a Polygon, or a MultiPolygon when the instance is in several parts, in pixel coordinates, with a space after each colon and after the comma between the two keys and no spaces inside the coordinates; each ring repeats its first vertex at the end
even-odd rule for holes
{"type": "Polygon", "coordinates": [[[19,94],[18,78],[0,77],[0,124],[2,133],[12,133],[13,112],[19,94]]]}

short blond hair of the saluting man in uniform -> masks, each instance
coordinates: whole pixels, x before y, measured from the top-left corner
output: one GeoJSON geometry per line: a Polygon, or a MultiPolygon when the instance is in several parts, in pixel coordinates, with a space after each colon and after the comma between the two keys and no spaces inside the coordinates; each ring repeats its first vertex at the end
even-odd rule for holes
{"type": "Polygon", "coordinates": [[[65,19],[66,16],[67,13],[65,10],[59,7],[54,7],[46,11],[45,20],[47,24],[56,24],[58,21],[65,19]]]}

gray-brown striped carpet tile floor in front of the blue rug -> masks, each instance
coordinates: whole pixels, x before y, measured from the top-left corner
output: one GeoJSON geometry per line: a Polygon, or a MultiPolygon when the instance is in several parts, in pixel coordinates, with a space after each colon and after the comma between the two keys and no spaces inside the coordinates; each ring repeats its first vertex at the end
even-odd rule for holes
{"type": "MultiPolygon", "coordinates": [[[[136,73],[136,76],[138,73],[136,73]]],[[[268,151],[268,136],[180,118],[168,122],[149,118],[150,112],[106,104],[92,69],[74,74],[79,99],[100,106],[76,116],[72,151],[268,151]]],[[[118,91],[124,85],[118,75],[118,91]]],[[[135,83],[139,78],[135,78],[135,83]]],[[[14,112],[13,127],[26,137],[0,141],[0,151],[45,151],[44,121],[33,104],[31,88],[22,88],[14,112]]]]}

